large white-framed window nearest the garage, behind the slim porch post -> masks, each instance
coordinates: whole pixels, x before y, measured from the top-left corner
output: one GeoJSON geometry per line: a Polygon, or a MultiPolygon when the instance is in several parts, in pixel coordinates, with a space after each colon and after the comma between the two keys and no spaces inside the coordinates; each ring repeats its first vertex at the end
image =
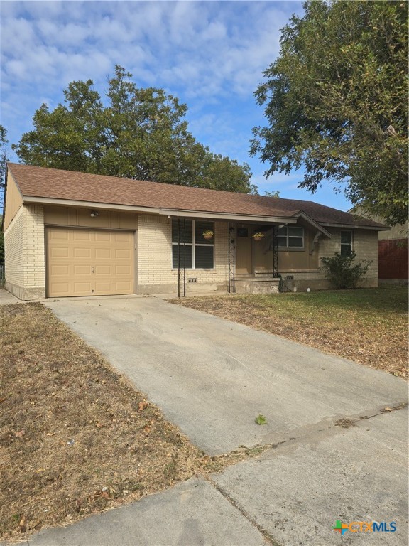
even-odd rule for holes
{"type": "Polygon", "coordinates": [[[212,231],[213,222],[202,220],[172,220],[172,267],[178,269],[180,248],[180,267],[186,264],[187,269],[214,268],[214,235],[212,239],[205,239],[203,233],[212,231]],[[180,247],[178,242],[180,241],[180,247]],[[185,243],[185,245],[184,245],[185,243]]]}

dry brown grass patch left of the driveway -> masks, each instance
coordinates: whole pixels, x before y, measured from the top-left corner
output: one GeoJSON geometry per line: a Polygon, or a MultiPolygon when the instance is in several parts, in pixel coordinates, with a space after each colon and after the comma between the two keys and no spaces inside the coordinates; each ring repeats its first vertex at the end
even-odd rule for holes
{"type": "Polygon", "coordinates": [[[257,454],[209,458],[41,304],[0,306],[0,540],[257,454]]]}

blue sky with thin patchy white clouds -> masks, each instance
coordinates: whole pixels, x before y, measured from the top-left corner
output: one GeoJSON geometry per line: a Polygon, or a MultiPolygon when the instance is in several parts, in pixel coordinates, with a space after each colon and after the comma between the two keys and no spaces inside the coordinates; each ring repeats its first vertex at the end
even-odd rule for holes
{"type": "MultiPolygon", "coordinates": [[[[17,143],[35,110],[63,102],[73,80],[103,95],[114,65],[139,87],[163,87],[188,107],[190,131],[217,154],[246,161],[258,191],[350,208],[323,184],[297,188],[301,172],[276,173],[249,157],[251,129],[263,125],[253,92],[279,52],[280,28],[298,1],[9,1],[1,0],[1,124],[17,143]]],[[[12,161],[18,161],[11,154],[12,161]]]]}

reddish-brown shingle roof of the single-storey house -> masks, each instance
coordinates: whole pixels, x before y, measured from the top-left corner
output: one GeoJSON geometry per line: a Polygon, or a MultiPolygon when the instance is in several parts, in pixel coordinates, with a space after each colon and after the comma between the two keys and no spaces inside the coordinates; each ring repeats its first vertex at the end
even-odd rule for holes
{"type": "Polygon", "coordinates": [[[304,211],[323,225],[382,227],[372,220],[357,218],[312,201],[189,188],[13,163],[8,166],[24,197],[271,217],[291,217],[304,211]]]}

